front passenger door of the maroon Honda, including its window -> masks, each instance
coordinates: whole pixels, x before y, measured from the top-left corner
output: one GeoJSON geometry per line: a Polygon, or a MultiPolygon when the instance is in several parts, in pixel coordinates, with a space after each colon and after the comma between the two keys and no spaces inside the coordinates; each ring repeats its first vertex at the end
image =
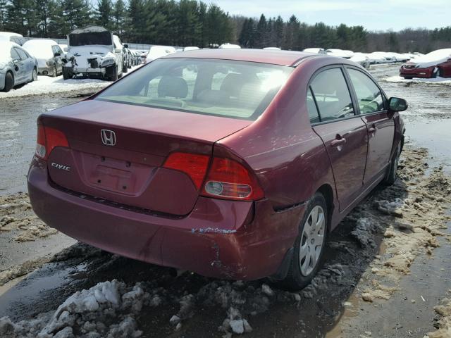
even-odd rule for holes
{"type": "Polygon", "coordinates": [[[368,128],[368,156],[364,184],[384,175],[390,161],[395,136],[395,121],[385,109],[385,99],[378,85],[358,68],[347,67],[357,108],[368,128]]]}

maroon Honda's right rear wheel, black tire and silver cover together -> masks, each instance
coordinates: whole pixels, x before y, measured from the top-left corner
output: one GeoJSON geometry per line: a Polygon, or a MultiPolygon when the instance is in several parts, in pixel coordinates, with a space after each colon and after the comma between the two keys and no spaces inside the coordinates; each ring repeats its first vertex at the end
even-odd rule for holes
{"type": "Polygon", "coordinates": [[[302,216],[288,274],[284,280],[277,282],[280,287],[299,290],[311,282],[323,263],[327,230],[326,199],[323,194],[316,192],[307,203],[307,208],[302,216]],[[311,227],[312,223],[316,223],[316,227],[311,227]]]}

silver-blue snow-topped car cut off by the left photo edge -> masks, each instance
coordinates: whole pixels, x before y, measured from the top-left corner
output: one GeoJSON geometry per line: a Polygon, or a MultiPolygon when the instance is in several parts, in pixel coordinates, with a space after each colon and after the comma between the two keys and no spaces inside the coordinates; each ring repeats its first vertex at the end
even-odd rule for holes
{"type": "Polygon", "coordinates": [[[0,40],[0,90],[37,80],[37,61],[14,42],[0,40]]]}

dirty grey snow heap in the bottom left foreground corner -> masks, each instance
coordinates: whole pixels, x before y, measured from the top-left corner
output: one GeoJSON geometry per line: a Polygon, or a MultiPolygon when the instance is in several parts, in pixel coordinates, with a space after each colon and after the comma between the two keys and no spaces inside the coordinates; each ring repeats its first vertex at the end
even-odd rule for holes
{"type": "Polygon", "coordinates": [[[141,337],[135,317],[142,306],[152,306],[152,296],[141,283],[127,287],[117,280],[102,282],[75,292],[54,313],[35,320],[12,323],[0,319],[0,337],[33,338],[135,338],[141,337]]]}

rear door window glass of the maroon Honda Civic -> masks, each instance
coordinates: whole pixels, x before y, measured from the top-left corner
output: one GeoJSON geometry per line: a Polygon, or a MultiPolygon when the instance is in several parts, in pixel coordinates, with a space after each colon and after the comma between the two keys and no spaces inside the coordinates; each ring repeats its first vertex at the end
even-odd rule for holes
{"type": "Polygon", "coordinates": [[[354,115],[351,94],[341,68],[323,70],[310,84],[321,121],[354,115]]]}

